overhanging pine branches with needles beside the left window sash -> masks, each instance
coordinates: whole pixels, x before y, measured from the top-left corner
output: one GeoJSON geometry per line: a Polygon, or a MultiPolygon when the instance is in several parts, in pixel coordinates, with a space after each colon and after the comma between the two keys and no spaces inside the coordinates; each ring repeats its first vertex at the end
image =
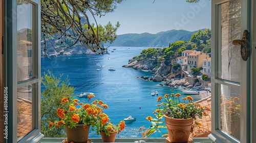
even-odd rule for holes
{"type": "MultiPolygon", "coordinates": [[[[19,0],[22,1],[22,0],[19,0]]],[[[113,42],[119,22],[113,26],[98,25],[95,16],[113,12],[122,0],[41,0],[41,32],[43,39],[57,37],[61,43],[67,37],[74,39],[73,46],[80,43],[95,53],[102,54],[101,42],[113,42]],[[93,18],[89,18],[91,17],[93,18]],[[91,23],[95,23],[94,25],[91,23]]],[[[46,43],[45,43],[46,51],[46,43]]]]}

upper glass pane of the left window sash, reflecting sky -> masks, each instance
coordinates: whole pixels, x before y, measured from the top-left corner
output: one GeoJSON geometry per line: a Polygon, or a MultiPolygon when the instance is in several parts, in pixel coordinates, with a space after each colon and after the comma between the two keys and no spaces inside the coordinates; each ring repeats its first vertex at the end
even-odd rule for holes
{"type": "Polygon", "coordinates": [[[17,6],[17,81],[32,78],[32,4],[17,6]]]}

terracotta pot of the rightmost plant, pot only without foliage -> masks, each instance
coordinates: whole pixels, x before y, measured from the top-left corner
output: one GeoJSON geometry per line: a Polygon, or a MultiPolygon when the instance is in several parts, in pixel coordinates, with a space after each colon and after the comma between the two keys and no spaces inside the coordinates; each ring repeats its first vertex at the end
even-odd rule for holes
{"type": "Polygon", "coordinates": [[[170,118],[164,115],[170,142],[188,142],[194,118],[170,118]]]}

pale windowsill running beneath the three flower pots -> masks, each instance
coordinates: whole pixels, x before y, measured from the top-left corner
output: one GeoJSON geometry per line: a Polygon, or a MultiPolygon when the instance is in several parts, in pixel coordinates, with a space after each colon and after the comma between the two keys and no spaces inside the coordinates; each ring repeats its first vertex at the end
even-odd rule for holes
{"type": "MultiPolygon", "coordinates": [[[[42,138],[39,142],[62,142],[65,138],[42,138]]],[[[101,138],[90,138],[92,142],[102,142],[101,138]]],[[[214,142],[208,137],[206,138],[192,138],[196,142],[214,142]]],[[[144,140],[146,142],[166,142],[165,138],[116,138],[115,142],[134,142],[144,140]]]]}

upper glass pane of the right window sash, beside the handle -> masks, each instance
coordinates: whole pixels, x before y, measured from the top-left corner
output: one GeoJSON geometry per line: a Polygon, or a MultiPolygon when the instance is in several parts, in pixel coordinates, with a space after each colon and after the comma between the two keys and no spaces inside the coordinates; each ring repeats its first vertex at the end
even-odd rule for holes
{"type": "Polygon", "coordinates": [[[240,82],[240,46],[232,41],[241,39],[241,2],[229,1],[221,5],[221,74],[219,78],[240,82]]]}

